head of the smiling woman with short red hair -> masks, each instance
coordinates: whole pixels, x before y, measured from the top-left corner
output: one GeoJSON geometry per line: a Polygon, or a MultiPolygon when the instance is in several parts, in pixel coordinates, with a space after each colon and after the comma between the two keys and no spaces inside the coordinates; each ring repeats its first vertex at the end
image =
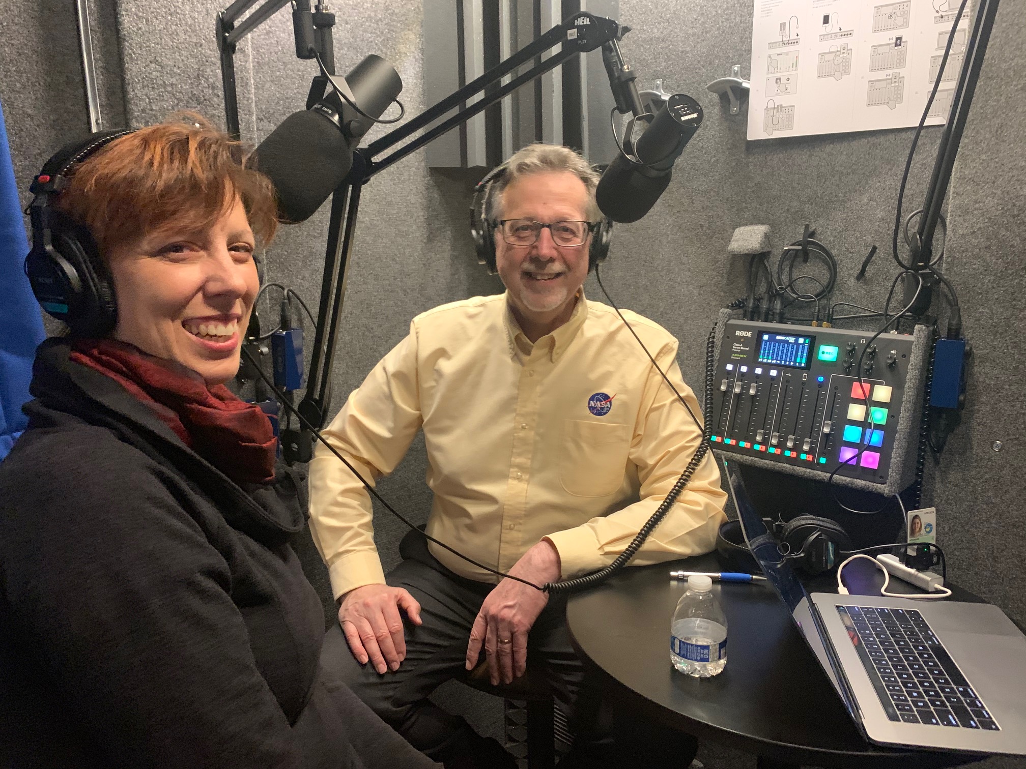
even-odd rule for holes
{"type": "Polygon", "coordinates": [[[56,207],[85,225],[110,274],[113,337],[220,385],[238,370],[258,288],[253,250],[277,226],[274,192],[238,162],[236,143],[183,117],[87,158],[56,207]]]}

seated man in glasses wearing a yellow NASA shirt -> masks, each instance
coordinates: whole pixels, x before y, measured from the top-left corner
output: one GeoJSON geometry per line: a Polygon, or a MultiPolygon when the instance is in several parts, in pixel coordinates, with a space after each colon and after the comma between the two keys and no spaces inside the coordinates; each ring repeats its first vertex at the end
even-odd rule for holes
{"type": "MultiPolygon", "coordinates": [[[[630,329],[582,293],[601,247],[594,243],[601,234],[597,181],[566,148],[532,145],[515,154],[484,203],[495,243],[490,267],[506,293],[415,318],[409,335],[324,431],[373,482],[394,470],[423,430],[434,492],[427,532],[535,584],[611,562],[702,439],[630,329]]],[[[675,361],[676,339],[645,318],[625,316],[699,414],[675,361]]],[[[591,689],[567,638],[565,600],[500,579],[433,543],[404,554],[386,578],[370,498],[323,445],[311,462],[310,492],[314,541],[345,634],[345,643],[342,634],[337,640],[337,672],[416,747],[447,767],[515,765],[427,699],[472,670],[483,651],[492,683],[522,675],[529,655],[545,663],[567,709],[578,701],[578,765],[687,765],[694,741],[682,736],[655,740],[665,758],[652,741],[646,759],[634,754],[629,764],[608,750],[607,718],[596,725],[594,714],[583,713],[601,709],[591,703],[597,695],[585,703],[591,689]],[[588,755],[589,744],[604,746],[588,755]]],[[[631,563],[712,550],[724,499],[707,456],[631,563]]]]}

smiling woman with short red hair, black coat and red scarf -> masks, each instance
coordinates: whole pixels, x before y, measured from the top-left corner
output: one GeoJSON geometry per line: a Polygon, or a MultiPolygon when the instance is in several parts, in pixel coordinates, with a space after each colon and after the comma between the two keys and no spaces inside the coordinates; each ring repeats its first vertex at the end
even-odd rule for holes
{"type": "Polygon", "coordinates": [[[225,388],[276,225],[240,157],[187,116],[50,188],[112,295],[40,346],[0,466],[4,766],[435,766],[322,670],[300,486],[225,388]]]}

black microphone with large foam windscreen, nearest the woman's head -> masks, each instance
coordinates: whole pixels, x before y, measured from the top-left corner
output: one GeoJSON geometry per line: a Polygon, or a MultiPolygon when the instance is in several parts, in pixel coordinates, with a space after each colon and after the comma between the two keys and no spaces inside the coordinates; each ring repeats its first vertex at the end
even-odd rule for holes
{"type": "Polygon", "coordinates": [[[320,208],[353,166],[353,151],[402,90],[388,62],[373,54],[336,81],[351,93],[332,90],[303,112],[294,112],[265,138],[250,163],[267,175],[278,196],[278,218],[305,221],[320,208]],[[350,104],[352,103],[352,104],[350,104]],[[354,107],[355,105],[355,107],[354,107]]]}

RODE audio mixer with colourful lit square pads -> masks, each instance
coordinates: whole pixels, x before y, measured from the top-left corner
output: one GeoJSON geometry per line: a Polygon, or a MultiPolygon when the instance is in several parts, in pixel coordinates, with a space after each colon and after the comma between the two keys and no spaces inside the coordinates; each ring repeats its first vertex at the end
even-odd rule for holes
{"type": "Polygon", "coordinates": [[[824,474],[839,467],[838,476],[887,484],[896,444],[908,444],[907,436],[898,440],[899,426],[917,424],[913,414],[903,419],[903,409],[915,401],[905,391],[910,364],[921,369],[922,345],[908,334],[872,336],[727,321],[714,372],[713,445],[824,474]]]}

